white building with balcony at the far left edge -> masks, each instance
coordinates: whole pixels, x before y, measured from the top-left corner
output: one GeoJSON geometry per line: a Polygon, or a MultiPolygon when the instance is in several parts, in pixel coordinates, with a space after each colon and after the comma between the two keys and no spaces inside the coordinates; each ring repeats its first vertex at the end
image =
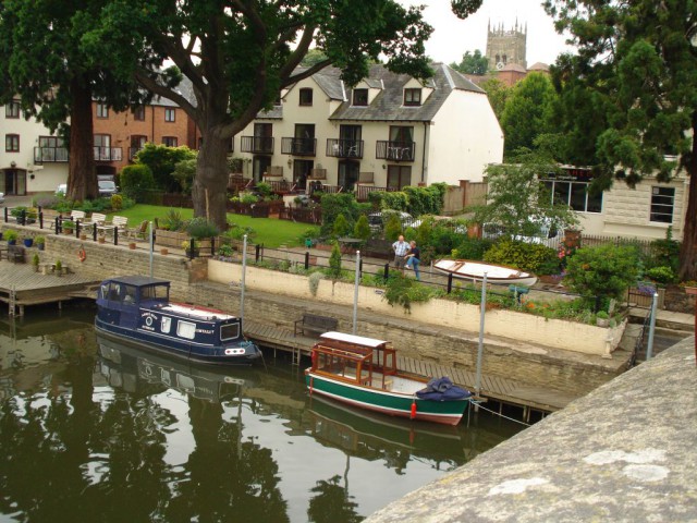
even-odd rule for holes
{"type": "Polygon", "coordinates": [[[19,101],[0,110],[0,134],[4,138],[4,148],[0,149],[1,193],[52,193],[65,182],[68,149],[44,124],[25,119],[19,101]]]}

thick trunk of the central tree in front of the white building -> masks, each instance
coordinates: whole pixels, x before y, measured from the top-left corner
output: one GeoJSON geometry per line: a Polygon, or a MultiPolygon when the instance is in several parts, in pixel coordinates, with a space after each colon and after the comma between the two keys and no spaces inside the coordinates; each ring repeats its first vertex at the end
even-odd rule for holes
{"type": "Polygon", "coordinates": [[[194,216],[203,216],[221,231],[228,228],[228,144],[216,127],[201,130],[196,177],[192,185],[194,216]]]}

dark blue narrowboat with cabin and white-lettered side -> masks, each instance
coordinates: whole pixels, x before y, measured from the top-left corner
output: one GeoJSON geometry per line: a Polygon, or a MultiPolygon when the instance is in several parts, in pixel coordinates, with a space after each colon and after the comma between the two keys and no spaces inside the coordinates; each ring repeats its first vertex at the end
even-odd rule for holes
{"type": "Polygon", "coordinates": [[[99,333],[188,361],[250,364],[261,351],[242,320],[222,311],[170,303],[170,282],[144,276],[105,280],[97,291],[99,333]]]}

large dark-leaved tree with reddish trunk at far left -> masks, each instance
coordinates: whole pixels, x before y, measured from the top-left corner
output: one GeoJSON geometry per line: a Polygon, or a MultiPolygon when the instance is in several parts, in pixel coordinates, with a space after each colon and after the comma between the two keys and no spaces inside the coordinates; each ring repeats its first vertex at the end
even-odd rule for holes
{"type": "Polygon", "coordinates": [[[139,102],[132,80],[117,81],[88,35],[103,1],[3,0],[0,3],[0,102],[19,97],[25,114],[59,130],[70,150],[68,196],[97,197],[93,98],[114,109],[139,102]],[[70,122],[70,123],[69,123],[70,122]]]}

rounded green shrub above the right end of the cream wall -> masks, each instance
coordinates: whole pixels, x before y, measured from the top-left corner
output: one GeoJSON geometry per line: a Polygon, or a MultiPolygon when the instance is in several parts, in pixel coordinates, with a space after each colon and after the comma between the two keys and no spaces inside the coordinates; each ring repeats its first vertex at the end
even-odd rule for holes
{"type": "Polygon", "coordinates": [[[594,296],[620,300],[638,276],[636,248],[601,245],[579,248],[566,265],[564,281],[586,300],[594,296]]]}

